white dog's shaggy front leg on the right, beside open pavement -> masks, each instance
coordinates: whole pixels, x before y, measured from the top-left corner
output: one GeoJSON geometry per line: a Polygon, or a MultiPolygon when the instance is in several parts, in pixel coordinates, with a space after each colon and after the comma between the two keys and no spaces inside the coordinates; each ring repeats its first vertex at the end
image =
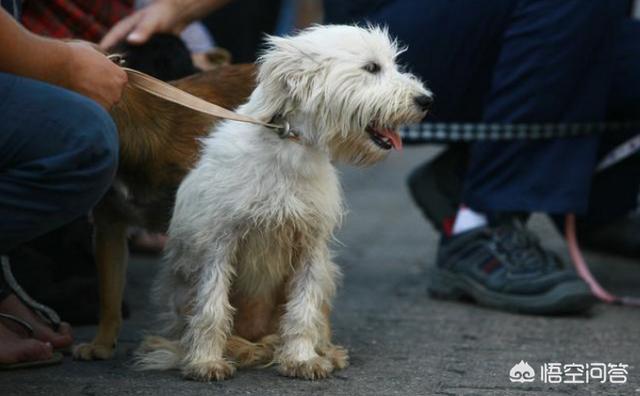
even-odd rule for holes
{"type": "Polygon", "coordinates": [[[332,362],[320,356],[318,348],[327,342],[323,307],[335,292],[337,273],[326,246],[310,252],[294,272],[280,325],[282,346],[276,356],[281,374],[314,380],[333,371],[332,362]]]}

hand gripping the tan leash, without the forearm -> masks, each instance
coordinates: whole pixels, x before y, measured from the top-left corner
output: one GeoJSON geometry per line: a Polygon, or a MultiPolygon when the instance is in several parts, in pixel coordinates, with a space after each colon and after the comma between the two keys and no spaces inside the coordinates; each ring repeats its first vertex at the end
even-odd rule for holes
{"type": "Polygon", "coordinates": [[[127,73],[89,43],[65,44],[69,55],[66,78],[61,85],[111,109],[122,96],[127,73]]]}

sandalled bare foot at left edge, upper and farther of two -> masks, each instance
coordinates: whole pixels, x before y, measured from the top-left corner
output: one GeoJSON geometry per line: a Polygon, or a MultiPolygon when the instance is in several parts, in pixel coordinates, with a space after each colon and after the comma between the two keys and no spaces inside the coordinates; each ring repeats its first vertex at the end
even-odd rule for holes
{"type": "MultiPolygon", "coordinates": [[[[50,343],[54,349],[66,348],[73,344],[71,326],[69,326],[68,323],[62,322],[58,331],[54,331],[48,323],[42,320],[42,318],[40,318],[29,307],[24,305],[14,294],[0,301],[0,312],[17,316],[29,323],[33,327],[33,338],[45,343],[50,343]]],[[[12,325],[7,323],[5,324],[13,329],[12,325]]]]}

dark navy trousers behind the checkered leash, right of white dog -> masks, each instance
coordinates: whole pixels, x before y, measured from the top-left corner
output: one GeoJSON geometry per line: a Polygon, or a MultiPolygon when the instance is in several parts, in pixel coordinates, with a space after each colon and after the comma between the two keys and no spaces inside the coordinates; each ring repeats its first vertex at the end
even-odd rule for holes
{"type": "MultiPolygon", "coordinates": [[[[627,17],[626,0],[325,0],[325,8],[328,22],[384,24],[408,45],[400,61],[435,94],[429,120],[640,118],[640,23],[627,17]]],[[[623,214],[636,205],[640,169],[593,183],[611,138],[620,137],[472,144],[463,201],[483,212],[623,214]],[[603,185],[616,189],[593,189],[603,185]]]]}

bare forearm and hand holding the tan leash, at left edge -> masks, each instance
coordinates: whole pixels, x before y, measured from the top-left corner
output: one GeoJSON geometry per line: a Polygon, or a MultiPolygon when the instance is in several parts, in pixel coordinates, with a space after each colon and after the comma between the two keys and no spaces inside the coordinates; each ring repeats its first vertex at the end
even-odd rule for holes
{"type": "Polygon", "coordinates": [[[107,109],[127,82],[126,73],[90,45],[32,34],[1,8],[0,72],[76,91],[107,109]]]}

